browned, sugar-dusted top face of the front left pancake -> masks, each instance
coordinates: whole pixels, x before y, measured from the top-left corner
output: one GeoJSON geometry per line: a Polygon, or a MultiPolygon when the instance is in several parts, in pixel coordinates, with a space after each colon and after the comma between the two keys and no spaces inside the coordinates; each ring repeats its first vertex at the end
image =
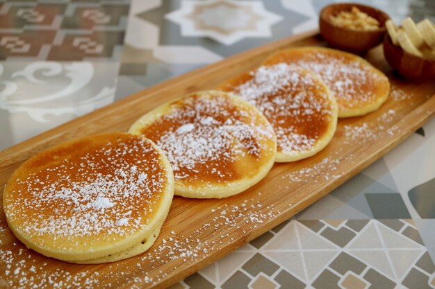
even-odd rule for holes
{"type": "Polygon", "coordinates": [[[149,141],[129,138],[84,155],[61,155],[60,164],[17,180],[15,200],[6,208],[8,218],[20,224],[17,231],[50,243],[47,236],[112,240],[141,229],[161,198],[167,173],[149,141]]]}

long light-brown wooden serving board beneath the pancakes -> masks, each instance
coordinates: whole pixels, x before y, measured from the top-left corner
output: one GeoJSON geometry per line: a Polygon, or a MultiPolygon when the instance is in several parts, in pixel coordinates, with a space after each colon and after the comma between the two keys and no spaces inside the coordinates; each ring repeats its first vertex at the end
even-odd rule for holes
{"type": "MultiPolygon", "coordinates": [[[[122,132],[167,100],[211,89],[288,46],[325,45],[318,31],[245,51],[167,80],[0,152],[0,191],[23,161],[56,143],[100,132],[122,132]]],[[[377,112],[340,119],[329,146],[309,159],[276,164],[252,189],[222,200],[174,198],[156,243],[145,254],[101,265],[75,265],[20,243],[0,209],[0,288],[164,288],[253,240],[313,204],[420,128],[435,113],[435,84],[396,78],[381,47],[366,55],[386,73],[392,92],[377,112]]]]}

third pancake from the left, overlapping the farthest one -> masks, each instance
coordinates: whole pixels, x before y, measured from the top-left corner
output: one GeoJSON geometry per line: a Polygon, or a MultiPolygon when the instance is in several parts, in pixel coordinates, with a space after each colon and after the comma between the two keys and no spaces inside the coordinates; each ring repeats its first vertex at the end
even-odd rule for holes
{"type": "Polygon", "coordinates": [[[311,157],[331,141],[337,104],[320,77],[285,63],[263,66],[220,86],[255,105],[277,134],[275,161],[311,157]]]}

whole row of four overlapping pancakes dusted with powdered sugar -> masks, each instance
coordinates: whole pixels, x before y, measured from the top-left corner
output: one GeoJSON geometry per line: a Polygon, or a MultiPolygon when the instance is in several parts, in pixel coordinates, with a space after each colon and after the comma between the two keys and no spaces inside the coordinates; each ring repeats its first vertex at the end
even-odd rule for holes
{"type": "Polygon", "coordinates": [[[350,53],[298,48],[172,100],[127,133],[98,134],[28,159],[3,194],[6,220],[29,248],[72,263],[145,252],[174,194],[225,198],[260,182],[275,161],[331,141],[338,117],[377,110],[388,78],[350,53]]]}

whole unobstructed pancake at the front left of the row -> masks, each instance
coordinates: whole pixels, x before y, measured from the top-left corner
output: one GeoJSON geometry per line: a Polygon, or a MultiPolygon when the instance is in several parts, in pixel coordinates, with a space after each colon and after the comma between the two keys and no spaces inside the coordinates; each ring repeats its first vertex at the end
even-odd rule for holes
{"type": "Polygon", "coordinates": [[[99,134],[25,161],[6,184],[3,207],[15,236],[45,256],[116,261],[154,242],[173,192],[170,163],[149,139],[99,134]]]}

